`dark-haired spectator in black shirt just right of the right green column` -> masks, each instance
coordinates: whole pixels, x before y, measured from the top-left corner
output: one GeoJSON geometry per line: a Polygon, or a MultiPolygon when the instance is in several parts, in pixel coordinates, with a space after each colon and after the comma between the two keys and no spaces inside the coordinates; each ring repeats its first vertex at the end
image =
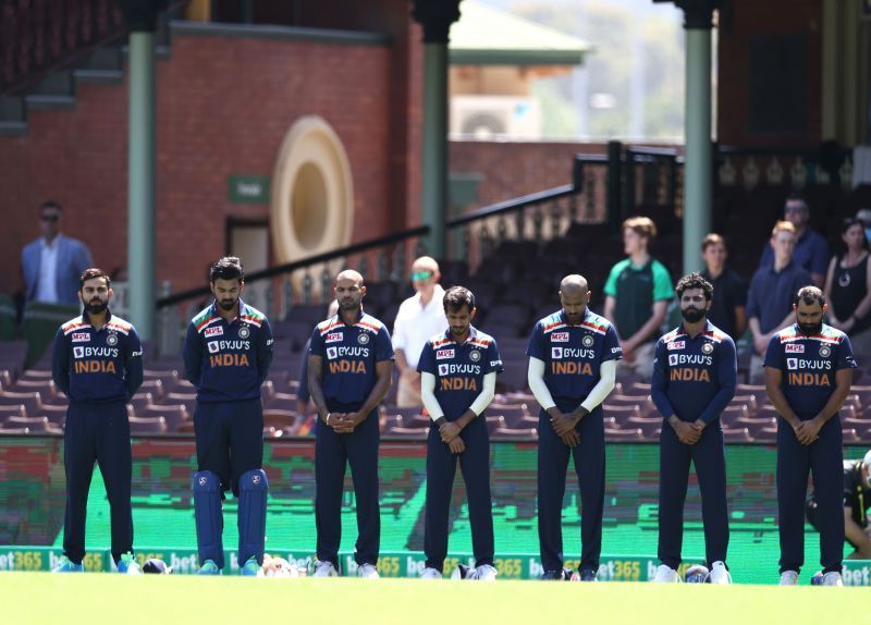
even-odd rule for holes
{"type": "Polygon", "coordinates": [[[701,257],[708,266],[701,275],[714,287],[708,319],[737,341],[747,330],[747,284],[726,267],[726,242],[719,234],[711,233],[702,240],[701,257]]]}

